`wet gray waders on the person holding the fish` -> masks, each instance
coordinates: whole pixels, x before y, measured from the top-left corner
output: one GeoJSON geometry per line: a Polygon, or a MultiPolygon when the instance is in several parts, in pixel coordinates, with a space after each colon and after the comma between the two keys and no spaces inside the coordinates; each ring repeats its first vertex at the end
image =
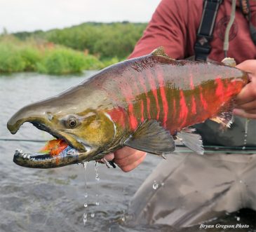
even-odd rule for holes
{"type": "MultiPolygon", "coordinates": [[[[236,118],[226,132],[217,123],[203,124],[198,130],[208,135],[208,143],[243,146],[243,118],[236,118]]],[[[248,123],[248,144],[256,145],[255,121],[248,123]]],[[[256,149],[198,155],[177,147],[137,190],[128,213],[134,224],[186,227],[245,207],[256,210],[256,149]]]]}

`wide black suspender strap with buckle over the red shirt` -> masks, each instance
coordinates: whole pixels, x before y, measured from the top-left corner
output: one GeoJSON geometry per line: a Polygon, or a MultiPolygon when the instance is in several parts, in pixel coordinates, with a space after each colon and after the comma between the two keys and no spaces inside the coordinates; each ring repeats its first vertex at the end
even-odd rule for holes
{"type": "Polygon", "coordinates": [[[220,4],[222,4],[222,0],[204,1],[203,15],[194,45],[195,60],[206,61],[210,53],[210,41],[213,39],[213,29],[220,4]]]}

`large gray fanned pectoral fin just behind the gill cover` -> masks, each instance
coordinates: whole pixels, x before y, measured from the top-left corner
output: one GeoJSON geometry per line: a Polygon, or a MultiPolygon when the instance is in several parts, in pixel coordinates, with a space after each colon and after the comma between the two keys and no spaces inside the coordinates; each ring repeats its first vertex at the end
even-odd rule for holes
{"type": "Polygon", "coordinates": [[[171,153],[175,150],[173,136],[156,120],[146,119],[124,144],[156,155],[171,153]]]}

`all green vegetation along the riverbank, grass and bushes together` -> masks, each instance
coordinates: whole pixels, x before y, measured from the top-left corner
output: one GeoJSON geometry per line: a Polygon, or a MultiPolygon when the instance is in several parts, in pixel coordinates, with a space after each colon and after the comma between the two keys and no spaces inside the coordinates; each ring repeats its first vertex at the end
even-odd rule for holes
{"type": "Polygon", "coordinates": [[[102,69],[126,59],[145,27],[143,23],[88,22],[47,32],[5,32],[0,36],[0,73],[69,74],[102,69]]]}

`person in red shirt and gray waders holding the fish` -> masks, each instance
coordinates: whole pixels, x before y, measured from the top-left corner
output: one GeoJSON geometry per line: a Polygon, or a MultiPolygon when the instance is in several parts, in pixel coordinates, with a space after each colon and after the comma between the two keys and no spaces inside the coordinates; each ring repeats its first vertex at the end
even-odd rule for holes
{"type": "MultiPolygon", "coordinates": [[[[224,34],[231,18],[232,2],[222,1],[217,11],[209,60],[220,62],[225,57],[224,34]]],[[[248,72],[250,82],[236,97],[235,120],[230,130],[222,132],[212,121],[195,127],[206,145],[253,147],[256,146],[253,120],[256,119],[256,45],[250,26],[256,26],[256,1],[235,4],[227,55],[235,58],[238,69],[248,72]],[[250,17],[241,11],[244,4],[250,4],[250,17]]],[[[203,0],[162,0],[129,58],[147,55],[159,46],[178,60],[193,56],[203,6],[203,0]]],[[[143,151],[123,147],[108,158],[114,158],[121,170],[130,172],[145,156],[143,151]]],[[[255,151],[250,154],[209,151],[204,156],[177,151],[162,161],[142,184],[130,203],[130,212],[137,223],[191,226],[242,207],[256,210],[255,175],[255,151]],[[158,182],[157,191],[152,189],[154,182],[158,182]]]]}

